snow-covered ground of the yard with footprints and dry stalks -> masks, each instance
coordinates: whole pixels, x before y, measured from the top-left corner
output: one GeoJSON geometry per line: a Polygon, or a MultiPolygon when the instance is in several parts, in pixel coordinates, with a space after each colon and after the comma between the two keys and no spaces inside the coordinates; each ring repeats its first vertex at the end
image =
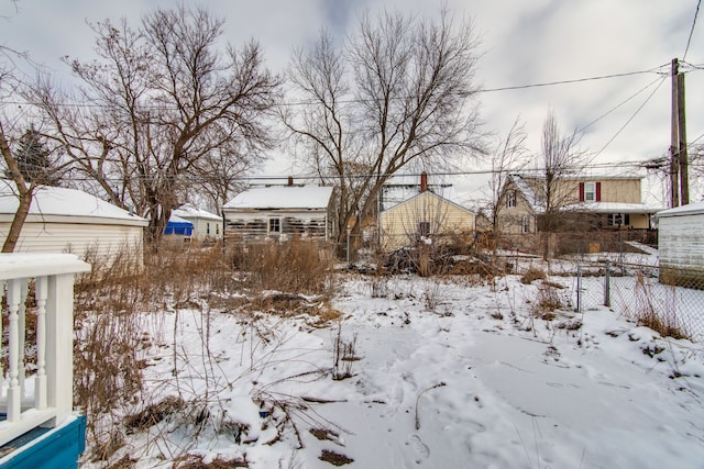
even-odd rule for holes
{"type": "MultiPolygon", "coordinates": [[[[568,304],[573,279],[551,280],[568,304]]],[[[154,313],[142,399],[186,404],[127,435],[113,458],[139,468],[185,454],[251,468],[332,467],[321,457],[356,468],[704,467],[701,344],[603,306],[541,319],[540,281],[517,276],[341,283],[332,305],[342,320],[327,326],[198,301],[154,313]],[[336,343],[352,359],[333,370],[336,343]]]]}

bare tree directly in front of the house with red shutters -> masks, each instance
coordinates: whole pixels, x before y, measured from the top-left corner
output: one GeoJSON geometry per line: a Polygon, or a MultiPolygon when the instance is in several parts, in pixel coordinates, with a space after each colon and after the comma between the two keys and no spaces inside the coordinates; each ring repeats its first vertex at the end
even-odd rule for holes
{"type": "Polygon", "coordinates": [[[552,257],[551,235],[563,223],[569,204],[575,203],[573,193],[566,190],[565,179],[579,175],[585,167],[584,153],[578,148],[580,134],[575,131],[562,135],[554,113],[549,112],[542,125],[542,153],[540,172],[542,194],[540,197],[540,226],[544,233],[543,256],[552,257]]]}

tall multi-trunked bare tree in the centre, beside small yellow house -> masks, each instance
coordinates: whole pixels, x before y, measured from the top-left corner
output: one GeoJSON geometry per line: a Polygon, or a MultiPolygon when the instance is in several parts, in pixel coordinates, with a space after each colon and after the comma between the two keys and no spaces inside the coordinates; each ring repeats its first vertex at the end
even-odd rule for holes
{"type": "Polygon", "coordinates": [[[362,15],[344,44],[323,31],[295,53],[289,78],[301,104],[282,116],[321,182],[338,187],[340,245],[400,169],[458,167],[480,149],[470,107],[477,58],[472,24],[447,11],[438,21],[362,15]]]}

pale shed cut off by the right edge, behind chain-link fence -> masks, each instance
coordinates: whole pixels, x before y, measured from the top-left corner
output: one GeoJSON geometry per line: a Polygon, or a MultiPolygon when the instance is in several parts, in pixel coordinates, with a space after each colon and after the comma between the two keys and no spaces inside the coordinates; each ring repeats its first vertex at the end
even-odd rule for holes
{"type": "Polygon", "coordinates": [[[657,214],[660,280],[704,289],[704,201],[657,214]]]}

